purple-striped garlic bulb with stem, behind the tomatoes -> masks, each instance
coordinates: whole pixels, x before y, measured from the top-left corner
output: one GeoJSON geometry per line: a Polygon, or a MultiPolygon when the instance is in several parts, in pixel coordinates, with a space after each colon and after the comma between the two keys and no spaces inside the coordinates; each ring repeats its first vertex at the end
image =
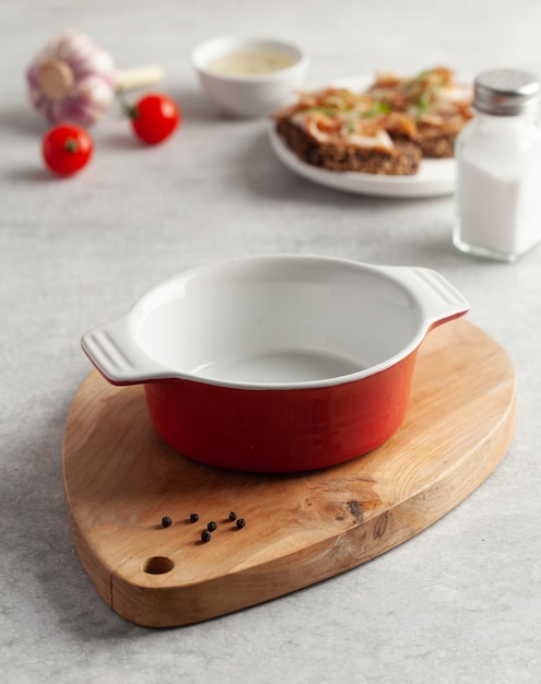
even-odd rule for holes
{"type": "Polygon", "coordinates": [[[160,67],[116,71],[113,58],[92,38],[64,31],[36,55],[28,71],[34,107],[52,123],[95,123],[113,103],[116,90],[150,85],[162,80],[160,67]]]}

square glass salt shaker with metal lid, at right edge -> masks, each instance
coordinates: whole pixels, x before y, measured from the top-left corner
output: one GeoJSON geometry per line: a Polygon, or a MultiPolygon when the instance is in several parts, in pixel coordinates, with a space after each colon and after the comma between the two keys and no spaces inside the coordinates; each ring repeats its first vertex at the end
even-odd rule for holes
{"type": "Polygon", "coordinates": [[[457,138],[455,246],[515,261],[541,241],[541,83],[498,69],[474,82],[475,116],[457,138]]]}

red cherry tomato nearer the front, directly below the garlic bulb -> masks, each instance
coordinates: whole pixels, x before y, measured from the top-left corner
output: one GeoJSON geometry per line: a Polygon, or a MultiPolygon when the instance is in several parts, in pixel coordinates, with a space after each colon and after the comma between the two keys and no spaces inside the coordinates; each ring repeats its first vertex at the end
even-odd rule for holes
{"type": "Polygon", "coordinates": [[[71,176],[86,166],[94,143],[89,133],[79,126],[60,123],[44,137],[42,153],[45,163],[58,176],[71,176]]]}

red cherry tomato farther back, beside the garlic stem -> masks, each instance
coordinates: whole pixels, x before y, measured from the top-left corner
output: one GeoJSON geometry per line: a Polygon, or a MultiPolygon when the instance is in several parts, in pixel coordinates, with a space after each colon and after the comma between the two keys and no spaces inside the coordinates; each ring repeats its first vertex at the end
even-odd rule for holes
{"type": "Polygon", "coordinates": [[[168,138],[183,119],[176,102],[158,93],[141,97],[128,114],[136,135],[151,145],[168,138]]]}

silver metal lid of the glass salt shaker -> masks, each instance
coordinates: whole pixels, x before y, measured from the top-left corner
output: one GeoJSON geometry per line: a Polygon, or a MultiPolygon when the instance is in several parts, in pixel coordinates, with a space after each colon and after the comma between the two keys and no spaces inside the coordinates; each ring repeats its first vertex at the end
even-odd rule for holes
{"type": "Polygon", "coordinates": [[[494,116],[529,114],[539,107],[541,83],[528,71],[494,69],[478,75],[473,107],[494,116]]]}

